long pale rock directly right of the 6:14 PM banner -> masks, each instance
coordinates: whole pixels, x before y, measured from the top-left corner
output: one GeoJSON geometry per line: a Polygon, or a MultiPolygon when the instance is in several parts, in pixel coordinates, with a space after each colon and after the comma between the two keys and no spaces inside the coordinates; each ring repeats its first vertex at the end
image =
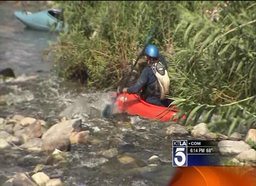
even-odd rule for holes
{"type": "Polygon", "coordinates": [[[244,141],[220,141],[218,144],[220,154],[239,154],[242,151],[247,151],[250,146],[244,141]]]}

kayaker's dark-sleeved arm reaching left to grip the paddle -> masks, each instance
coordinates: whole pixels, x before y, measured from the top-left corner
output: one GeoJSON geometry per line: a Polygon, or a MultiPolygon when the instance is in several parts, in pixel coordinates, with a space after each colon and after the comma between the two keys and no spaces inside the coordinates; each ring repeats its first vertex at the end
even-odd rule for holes
{"type": "Polygon", "coordinates": [[[142,87],[148,82],[149,70],[151,70],[150,67],[144,68],[137,82],[133,86],[125,87],[123,92],[127,92],[129,94],[139,93],[142,87]]]}

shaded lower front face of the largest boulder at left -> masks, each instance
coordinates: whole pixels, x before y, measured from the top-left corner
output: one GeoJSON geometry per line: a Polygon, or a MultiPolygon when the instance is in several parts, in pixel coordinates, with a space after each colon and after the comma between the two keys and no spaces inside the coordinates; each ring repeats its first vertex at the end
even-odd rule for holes
{"type": "Polygon", "coordinates": [[[63,152],[69,151],[69,136],[57,134],[43,139],[42,151],[46,154],[52,153],[56,148],[63,152]]]}

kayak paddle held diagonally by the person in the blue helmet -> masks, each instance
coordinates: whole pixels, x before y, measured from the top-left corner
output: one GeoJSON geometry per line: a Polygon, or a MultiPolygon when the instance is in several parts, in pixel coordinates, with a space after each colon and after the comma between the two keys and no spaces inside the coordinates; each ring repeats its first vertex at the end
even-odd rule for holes
{"type": "MultiPolygon", "coordinates": [[[[123,88],[126,84],[127,84],[127,81],[130,79],[130,77],[132,76],[132,71],[133,69],[135,68],[137,62],[139,61],[140,57],[143,56],[144,54],[144,50],[146,48],[146,46],[148,45],[149,41],[151,40],[152,38],[152,35],[153,35],[153,32],[155,31],[155,28],[153,28],[149,34],[149,37],[146,38],[146,41],[145,41],[145,44],[143,46],[143,49],[142,51],[140,52],[139,56],[137,56],[137,59],[135,61],[135,63],[133,64],[132,66],[132,69],[130,70],[129,74],[127,75],[127,78],[123,81],[123,83],[121,84],[121,88],[123,88]]],[[[103,117],[104,118],[109,118],[112,113],[113,113],[113,109],[114,109],[114,103],[116,102],[117,100],[117,97],[118,97],[118,94],[116,96],[116,98],[113,100],[113,102],[111,104],[108,104],[107,106],[105,106],[105,109],[103,110],[103,117]]]]}

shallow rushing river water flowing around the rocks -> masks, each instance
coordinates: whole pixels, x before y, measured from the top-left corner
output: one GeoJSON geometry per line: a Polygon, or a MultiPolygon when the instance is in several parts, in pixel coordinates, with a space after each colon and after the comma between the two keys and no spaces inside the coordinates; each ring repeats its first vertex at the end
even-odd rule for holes
{"type": "MultiPolygon", "coordinates": [[[[0,5],[0,66],[10,67],[16,80],[0,83],[1,95],[8,105],[0,105],[0,117],[20,114],[43,119],[49,126],[66,118],[81,118],[90,130],[91,145],[72,145],[65,164],[50,166],[45,172],[60,178],[66,185],[167,185],[176,169],[172,167],[171,138],[162,138],[161,129],[170,122],[151,122],[138,116],[101,116],[110,102],[109,92],[88,90],[76,83],[66,83],[52,73],[52,61],[41,55],[57,34],[29,30],[13,12],[20,6],[0,5]],[[25,75],[24,75],[25,74],[25,75]],[[135,159],[131,167],[120,164],[116,156],[106,158],[100,151],[110,149],[110,139],[120,138],[125,145],[117,156],[135,159]],[[157,155],[161,162],[149,168],[148,158],[157,155]],[[150,171],[148,169],[151,169],[150,171]]],[[[0,185],[17,172],[30,172],[47,157],[24,151],[0,152],[0,185]]]]}

